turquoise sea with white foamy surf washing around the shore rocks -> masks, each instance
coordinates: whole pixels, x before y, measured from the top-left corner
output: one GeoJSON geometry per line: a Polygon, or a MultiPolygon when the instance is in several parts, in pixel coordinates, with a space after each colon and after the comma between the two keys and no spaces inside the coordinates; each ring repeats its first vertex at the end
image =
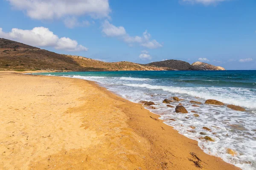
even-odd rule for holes
{"type": "MultiPolygon", "coordinates": [[[[256,170],[256,71],[103,71],[37,73],[48,76],[92,80],[109,91],[132,102],[152,101],[165,124],[180,134],[198,141],[205,153],[218,156],[243,170],[256,170]],[[175,113],[164,99],[177,96],[189,113],[175,113]],[[215,99],[226,105],[193,107],[189,101],[204,103],[215,99]],[[227,105],[238,105],[246,111],[234,111],[227,105]],[[198,112],[198,117],[193,116],[198,112]],[[172,119],[172,120],[170,120],[172,119]],[[173,121],[173,119],[175,121],[173,121]],[[191,127],[195,128],[192,129],[191,127]],[[211,131],[204,130],[208,127],[211,131]],[[215,142],[204,139],[209,136],[215,142]],[[227,149],[237,154],[231,156],[227,149]]],[[[197,104],[195,104],[197,105],[197,104]]]]}

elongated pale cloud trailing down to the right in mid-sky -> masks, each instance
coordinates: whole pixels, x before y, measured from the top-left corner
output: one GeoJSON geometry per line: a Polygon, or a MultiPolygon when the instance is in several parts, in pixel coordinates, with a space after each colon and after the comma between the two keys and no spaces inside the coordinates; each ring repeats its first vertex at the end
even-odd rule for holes
{"type": "Polygon", "coordinates": [[[147,30],[143,32],[142,36],[132,37],[125,31],[123,26],[114,26],[108,20],[105,20],[102,24],[102,32],[108,37],[118,37],[130,46],[133,46],[134,43],[146,48],[159,48],[163,46],[157,40],[151,40],[151,34],[147,30]]]}

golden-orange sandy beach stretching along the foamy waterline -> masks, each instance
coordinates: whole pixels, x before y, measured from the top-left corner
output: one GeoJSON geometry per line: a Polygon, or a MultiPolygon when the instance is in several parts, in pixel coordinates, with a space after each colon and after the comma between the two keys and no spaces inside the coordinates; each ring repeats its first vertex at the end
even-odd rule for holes
{"type": "Polygon", "coordinates": [[[0,169],[239,169],[152,118],[94,82],[0,72],[0,169]]]}

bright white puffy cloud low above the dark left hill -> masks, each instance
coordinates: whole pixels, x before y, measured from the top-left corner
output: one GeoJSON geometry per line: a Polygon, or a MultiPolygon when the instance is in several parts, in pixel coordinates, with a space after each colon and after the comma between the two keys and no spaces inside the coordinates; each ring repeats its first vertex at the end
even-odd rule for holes
{"type": "Polygon", "coordinates": [[[8,33],[3,32],[3,29],[0,28],[0,37],[38,47],[54,47],[66,51],[88,51],[88,48],[78,45],[76,40],[66,37],[59,38],[49,28],[44,27],[35,27],[32,30],[12,28],[12,31],[8,33]]]}

